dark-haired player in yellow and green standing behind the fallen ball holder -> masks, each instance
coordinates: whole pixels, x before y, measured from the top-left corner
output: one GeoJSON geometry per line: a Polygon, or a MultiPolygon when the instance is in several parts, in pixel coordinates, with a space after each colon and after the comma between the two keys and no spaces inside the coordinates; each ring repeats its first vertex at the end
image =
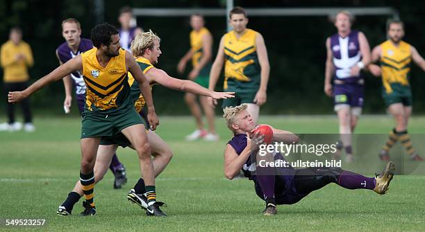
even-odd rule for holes
{"type": "MultiPolygon", "coordinates": [[[[235,98],[224,100],[222,107],[247,103],[249,114],[257,121],[260,106],[267,100],[270,71],[267,48],[263,36],[247,28],[244,8],[233,8],[229,13],[229,23],[233,30],[220,40],[210,72],[209,88],[215,89],[224,64],[224,91],[235,92],[235,98]]],[[[210,99],[210,102],[217,104],[216,100],[210,99]]]]}

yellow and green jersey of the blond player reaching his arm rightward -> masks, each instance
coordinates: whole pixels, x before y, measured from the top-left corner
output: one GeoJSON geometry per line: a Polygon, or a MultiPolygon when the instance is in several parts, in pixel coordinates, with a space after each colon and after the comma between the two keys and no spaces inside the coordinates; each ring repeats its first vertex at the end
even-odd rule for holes
{"type": "MultiPolygon", "coordinates": [[[[153,68],[151,62],[144,57],[138,57],[136,62],[139,64],[140,69],[142,69],[143,74],[146,74],[149,69],[153,68]]],[[[139,83],[133,78],[131,73],[128,73],[128,84],[130,84],[131,87],[131,100],[134,102],[135,110],[140,112],[146,104],[146,101],[140,91],[139,83]]],[[[150,86],[152,89],[153,84],[150,84],[150,86]]]]}

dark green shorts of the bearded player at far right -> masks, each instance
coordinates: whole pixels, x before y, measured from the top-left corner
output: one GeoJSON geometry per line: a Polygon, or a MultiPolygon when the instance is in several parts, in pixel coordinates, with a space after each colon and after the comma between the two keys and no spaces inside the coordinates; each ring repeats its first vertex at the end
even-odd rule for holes
{"type": "Polygon", "coordinates": [[[382,98],[385,101],[385,106],[389,107],[394,103],[401,103],[403,106],[412,105],[412,91],[408,86],[401,84],[391,84],[392,92],[387,93],[385,89],[382,91],[382,98]]]}

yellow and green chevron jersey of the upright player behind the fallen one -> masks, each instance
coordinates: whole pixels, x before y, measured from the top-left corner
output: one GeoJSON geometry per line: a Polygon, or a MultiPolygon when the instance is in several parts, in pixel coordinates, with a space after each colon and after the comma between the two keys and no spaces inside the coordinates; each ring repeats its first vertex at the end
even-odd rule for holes
{"type": "Polygon", "coordinates": [[[256,48],[257,35],[251,29],[246,29],[240,38],[233,30],[224,35],[224,89],[228,89],[228,84],[259,87],[261,69],[256,48]]]}

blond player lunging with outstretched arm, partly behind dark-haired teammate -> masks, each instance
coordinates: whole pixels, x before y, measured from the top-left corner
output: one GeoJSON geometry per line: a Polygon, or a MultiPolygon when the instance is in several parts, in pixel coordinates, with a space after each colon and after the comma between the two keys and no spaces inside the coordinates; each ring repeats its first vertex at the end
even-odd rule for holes
{"type": "MultiPolygon", "coordinates": [[[[210,96],[214,99],[233,97],[233,93],[210,91],[195,82],[172,78],[167,75],[165,71],[156,69],[152,64],[158,63],[158,57],[162,52],[160,51],[160,38],[151,31],[136,35],[131,46],[131,50],[133,55],[136,56],[136,62],[139,64],[151,86],[153,86],[153,84],[160,84],[169,89],[188,91],[195,94],[210,96]]],[[[131,75],[128,82],[131,85],[131,98],[133,99],[135,109],[136,111],[142,112],[142,109],[145,108],[145,100],[143,95],[140,94],[138,82],[131,78],[131,75]]],[[[155,177],[157,177],[161,172],[163,172],[169,161],[172,159],[173,154],[167,143],[165,143],[165,141],[163,141],[163,139],[161,139],[155,132],[147,130],[147,138],[151,145],[151,155],[153,156],[152,163],[155,170],[155,177]]],[[[99,150],[97,151],[97,160],[94,165],[94,179],[96,182],[100,181],[106,174],[106,170],[108,170],[108,163],[110,163],[118,145],[126,147],[131,145],[131,143],[129,143],[122,134],[102,139],[99,150]]],[[[71,214],[74,204],[78,202],[81,195],[83,195],[83,190],[80,182],[77,181],[74,190],[69,193],[65,202],[63,202],[63,204],[58,208],[58,215],[71,214]]],[[[140,178],[138,183],[135,184],[135,187],[129,191],[127,197],[132,202],[135,202],[144,208],[144,210],[147,211],[147,215],[165,216],[165,213],[163,213],[159,208],[159,206],[163,206],[163,203],[156,202],[156,204],[151,205],[149,195],[149,186],[145,186],[144,179],[140,178]]]]}

